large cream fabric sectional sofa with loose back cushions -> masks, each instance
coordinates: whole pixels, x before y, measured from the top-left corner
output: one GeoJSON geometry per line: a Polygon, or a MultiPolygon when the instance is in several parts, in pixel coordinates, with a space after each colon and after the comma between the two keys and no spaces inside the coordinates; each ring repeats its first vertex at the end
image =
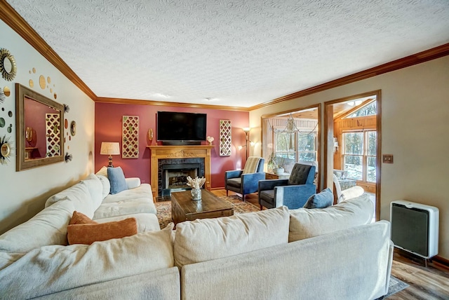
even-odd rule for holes
{"type": "Polygon", "coordinates": [[[109,195],[107,178],[90,175],[0,236],[0,299],[365,300],[387,293],[389,223],[370,223],[366,195],[324,209],[186,221],[173,231],[173,224],[159,229],[150,187],[128,184],[109,195]],[[135,217],[138,233],[67,245],[74,210],[99,222],[135,217]]]}

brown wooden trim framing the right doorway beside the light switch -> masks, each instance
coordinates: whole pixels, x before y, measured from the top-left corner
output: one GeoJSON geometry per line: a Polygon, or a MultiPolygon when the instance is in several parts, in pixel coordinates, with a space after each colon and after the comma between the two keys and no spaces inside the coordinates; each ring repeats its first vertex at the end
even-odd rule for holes
{"type": "Polygon", "coordinates": [[[356,100],[363,97],[376,96],[376,221],[380,219],[380,177],[382,167],[382,90],[373,90],[367,93],[361,93],[358,95],[352,95],[349,97],[343,97],[340,99],[330,100],[324,102],[324,157],[323,157],[323,177],[324,187],[332,189],[333,186],[333,104],[340,102],[347,102],[350,100],[356,100]],[[332,159],[331,159],[332,158],[332,159]]]}

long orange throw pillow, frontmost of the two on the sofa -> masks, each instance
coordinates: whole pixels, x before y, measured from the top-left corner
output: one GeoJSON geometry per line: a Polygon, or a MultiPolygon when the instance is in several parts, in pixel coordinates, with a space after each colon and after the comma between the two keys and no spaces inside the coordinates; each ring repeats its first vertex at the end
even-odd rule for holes
{"type": "Polygon", "coordinates": [[[69,245],[85,244],[110,240],[112,238],[124,238],[138,233],[138,223],[135,218],[121,221],[112,221],[97,224],[73,224],[67,226],[67,240],[69,245]]]}

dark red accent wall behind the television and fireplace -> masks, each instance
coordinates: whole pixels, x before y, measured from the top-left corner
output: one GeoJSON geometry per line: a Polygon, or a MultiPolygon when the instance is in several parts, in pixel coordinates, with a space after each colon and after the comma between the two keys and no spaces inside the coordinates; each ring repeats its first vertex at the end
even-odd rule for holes
{"type": "MultiPolygon", "coordinates": [[[[243,168],[245,164],[245,148],[239,150],[239,145],[245,144],[245,132],[241,128],[249,125],[248,111],[226,111],[220,109],[196,109],[189,107],[169,107],[140,104],[109,104],[95,103],[95,172],[103,165],[108,164],[108,156],[100,155],[101,142],[119,142],[121,147],[121,120],[122,116],[139,116],[139,158],[121,158],[121,155],[112,156],[114,167],[120,166],[125,177],[140,177],[144,183],[150,182],[150,152],[147,146],[147,132],[153,129],[154,138],[151,145],[156,142],[156,114],[157,111],[185,111],[207,114],[206,135],[214,137],[211,151],[211,186],[222,188],[225,186],[225,171],[243,168]],[[231,120],[232,125],[232,155],[220,156],[219,127],[220,120],[231,120]]],[[[208,144],[208,142],[202,142],[208,144]]]]}

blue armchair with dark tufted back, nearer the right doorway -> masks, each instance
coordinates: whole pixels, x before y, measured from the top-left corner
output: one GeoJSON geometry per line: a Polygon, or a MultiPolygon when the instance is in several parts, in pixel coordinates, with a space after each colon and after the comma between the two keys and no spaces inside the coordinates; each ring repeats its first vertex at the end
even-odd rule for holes
{"type": "Polygon", "coordinates": [[[286,205],[290,210],[303,207],[316,193],[315,166],[295,163],[288,179],[269,179],[259,182],[259,204],[267,208],[286,205]]]}

